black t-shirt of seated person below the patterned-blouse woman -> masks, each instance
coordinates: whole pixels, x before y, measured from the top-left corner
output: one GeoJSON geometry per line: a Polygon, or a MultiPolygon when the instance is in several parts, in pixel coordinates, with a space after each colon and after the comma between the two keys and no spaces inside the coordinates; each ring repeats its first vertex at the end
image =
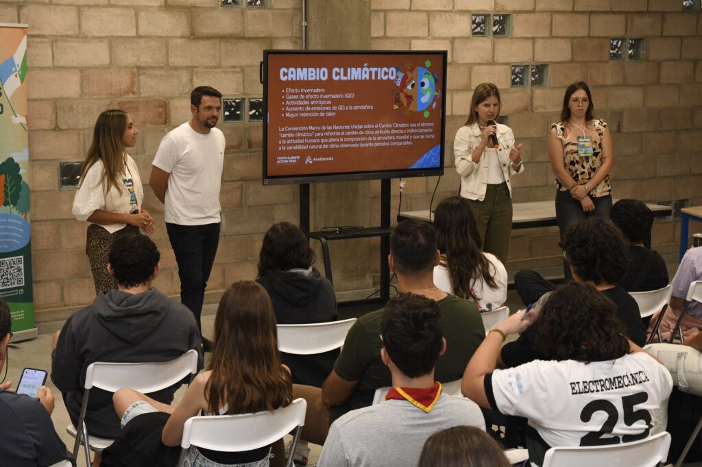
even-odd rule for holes
{"type": "Polygon", "coordinates": [[[658,290],[668,285],[668,266],[665,259],[656,250],[631,245],[629,247],[630,262],[626,274],[619,285],[627,292],[647,292],[658,290]],[[649,259],[650,255],[650,259],[649,259]],[[645,270],[644,270],[645,269],[645,270]],[[643,274],[642,278],[639,276],[643,274]],[[638,286],[637,280],[639,281],[638,286]]]}

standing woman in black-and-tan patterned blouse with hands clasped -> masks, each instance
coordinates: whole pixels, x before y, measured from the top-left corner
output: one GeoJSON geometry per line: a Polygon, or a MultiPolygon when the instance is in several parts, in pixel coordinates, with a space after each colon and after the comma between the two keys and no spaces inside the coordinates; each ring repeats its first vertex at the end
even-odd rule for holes
{"type": "MultiPolygon", "coordinates": [[[[592,95],[579,81],[566,89],[561,121],[548,134],[548,158],[556,177],[556,221],[563,241],[566,229],[581,219],[609,219],[612,207],[609,172],[612,138],[607,122],[594,119],[592,95]]],[[[564,276],[571,278],[564,259],[564,276]]]]}

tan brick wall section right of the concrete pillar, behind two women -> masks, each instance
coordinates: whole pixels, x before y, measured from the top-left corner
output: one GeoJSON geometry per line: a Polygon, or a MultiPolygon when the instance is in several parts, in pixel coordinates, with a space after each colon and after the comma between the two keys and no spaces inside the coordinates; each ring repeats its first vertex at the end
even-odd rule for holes
{"type": "MultiPolygon", "coordinates": [[[[435,205],[458,190],[453,136],[484,81],[501,88],[503,115],[524,143],[527,171],[512,179],[515,202],[552,200],[546,137],[565,88],[580,80],[614,137],[614,196],[702,204],[702,14],[683,12],[682,0],[375,0],[371,8],[374,49],[449,50],[446,175],[435,205]],[[511,15],[511,34],[472,36],[476,13],[511,15]],[[610,60],[613,38],[645,39],[643,59],[610,60]],[[548,85],[510,88],[511,66],[531,64],[549,65],[548,85]]],[[[427,209],[436,182],[408,180],[402,210],[427,209]]],[[[379,186],[373,182],[375,196],[379,186]]],[[[398,189],[393,182],[392,212],[398,189]]],[[[377,206],[371,201],[371,212],[377,206]]],[[[674,251],[679,235],[679,224],[654,225],[661,250],[674,251]]],[[[508,269],[558,265],[557,241],[556,228],[513,231],[508,269]],[[534,262],[539,257],[550,261],[534,262]]]]}

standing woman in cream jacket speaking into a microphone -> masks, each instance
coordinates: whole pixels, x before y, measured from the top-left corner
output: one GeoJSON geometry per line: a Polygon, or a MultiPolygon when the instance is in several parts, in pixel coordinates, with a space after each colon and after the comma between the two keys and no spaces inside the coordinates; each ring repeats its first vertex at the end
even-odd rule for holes
{"type": "Polygon", "coordinates": [[[497,86],[479,84],[470,101],[468,121],[453,140],[453,153],[461,175],[461,196],[475,213],[483,251],[505,263],[512,232],[510,176],[524,172],[524,164],[519,155],[523,144],[515,146],[512,130],[495,121],[500,110],[497,86]]]}

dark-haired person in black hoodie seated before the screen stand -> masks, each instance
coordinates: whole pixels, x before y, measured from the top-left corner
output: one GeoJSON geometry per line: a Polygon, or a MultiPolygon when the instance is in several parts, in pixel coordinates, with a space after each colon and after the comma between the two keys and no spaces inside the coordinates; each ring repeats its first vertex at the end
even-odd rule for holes
{"type": "MultiPolygon", "coordinates": [[[[274,224],[263,237],[258,278],[273,303],[278,324],[336,321],[336,295],[329,280],[312,267],[314,252],[303,231],[290,222],[274,224]]],[[[309,356],[282,353],[293,383],[322,387],[338,349],[309,356]]]]}

